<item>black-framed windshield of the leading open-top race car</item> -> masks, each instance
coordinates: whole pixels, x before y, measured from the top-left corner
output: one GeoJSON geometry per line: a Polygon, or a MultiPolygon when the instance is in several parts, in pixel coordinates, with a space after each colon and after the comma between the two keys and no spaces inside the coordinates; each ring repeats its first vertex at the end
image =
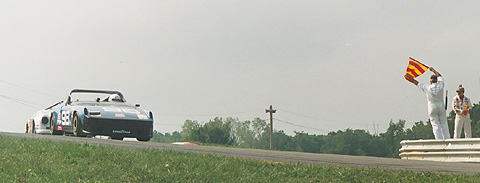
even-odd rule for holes
{"type": "Polygon", "coordinates": [[[72,102],[125,102],[118,94],[108,93],[72,93],[72,102]]]}

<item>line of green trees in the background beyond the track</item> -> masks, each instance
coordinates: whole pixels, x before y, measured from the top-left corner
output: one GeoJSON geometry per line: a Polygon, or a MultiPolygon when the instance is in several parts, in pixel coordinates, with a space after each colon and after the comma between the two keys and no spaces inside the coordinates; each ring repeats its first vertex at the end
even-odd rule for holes
{"type": "MultiPolygon", "coordinates": [[[[425,115],[426,118],[427,115],[425,115]]],[[[474,104],[470,112],[472,137],[480,137],[480,103],[474,104]]],[[[450,135],[453,137],[455,113],[447,116],[450,135]]],[[[391,120],[385,133],[371,134],[363,129],[345,129],[327,135],[294,132],[287,135],[283,130],[274,130],[273,148],[281,151],[344,154],[399,158],[400,141],[434,139],[430,121],[419,121],[405,128],[405,120],[391,120]]],[[[462,134],[464,138],[464,134],[462,134]]],[[[244,148],[269,149],[270,124],[260,118],[240,121],[238,118],[216,117],[206,123],[186,120],[181,132],[159,133],[154,131],[151,141],[170,143],[189,141],[244,148]]]]}

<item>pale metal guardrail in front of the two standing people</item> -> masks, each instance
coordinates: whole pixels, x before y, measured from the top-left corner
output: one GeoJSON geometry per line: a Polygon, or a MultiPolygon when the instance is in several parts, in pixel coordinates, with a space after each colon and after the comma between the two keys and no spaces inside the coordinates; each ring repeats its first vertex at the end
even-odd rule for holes
{"type": "Polygon", "coordinates": [[[402,159],[480,163],[480,138],[404,140],[400,144],[402,159]]]}

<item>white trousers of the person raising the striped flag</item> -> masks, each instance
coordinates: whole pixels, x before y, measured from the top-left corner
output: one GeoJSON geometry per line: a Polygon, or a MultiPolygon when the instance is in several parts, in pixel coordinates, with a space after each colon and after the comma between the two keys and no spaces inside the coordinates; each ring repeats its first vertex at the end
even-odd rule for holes
{"type": "Polygon", "coordinates": [[[447,113],[443,107],[443,103],[429,106],[428,117],[432,123],[432,130],[435,139],[449,139],[450,132],[448,131],[447,113]]]}

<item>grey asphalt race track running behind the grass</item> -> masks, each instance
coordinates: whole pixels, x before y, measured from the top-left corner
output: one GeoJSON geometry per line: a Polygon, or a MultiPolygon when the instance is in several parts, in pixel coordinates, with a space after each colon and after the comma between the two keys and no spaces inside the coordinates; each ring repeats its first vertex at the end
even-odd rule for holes
{"type": "Polygon", "coordinates": [[[72,141],[94,145],[114,146],[126,149],[177,150],[191,153],[215,154],[219,156],[243,159],[258,159],[276,162],[305,163],[343,167],[378,168],[391,170],[409,170],[419,172],[442,172],[452,174],[475,175],[480,173],[477,163],[446,163],[434,161],[401,160],[368,156],[346,156],[334,154],[316,154],[302,152],[269,151],[214,146],[173,145],[155,142],[119,141],[98,138],[79,138],[69,136],[36,135],[25,133],[0,132],[0,135],[14,138],[48,139],[52,141],[72,141]]]}

